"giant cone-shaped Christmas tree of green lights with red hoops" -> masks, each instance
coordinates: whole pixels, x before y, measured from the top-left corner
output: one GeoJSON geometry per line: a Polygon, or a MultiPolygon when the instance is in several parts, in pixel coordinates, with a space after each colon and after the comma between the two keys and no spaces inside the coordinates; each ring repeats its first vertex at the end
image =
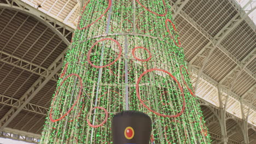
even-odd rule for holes
{"type": "Polygon", "coordinates": [[[112,143],[124,110],[152,118],[150,143],[210,143],[192,87],[170,4],[88,0],[40,143],[112,143]]]}

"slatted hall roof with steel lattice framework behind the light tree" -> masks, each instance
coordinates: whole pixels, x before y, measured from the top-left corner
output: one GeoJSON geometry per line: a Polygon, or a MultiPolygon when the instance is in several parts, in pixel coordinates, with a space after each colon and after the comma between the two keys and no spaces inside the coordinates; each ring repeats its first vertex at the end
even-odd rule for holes
{"type": "MultiPolygon", "coordinates": [[[[243,10],[240,5],[233,0],[207,2],[182,0],[168,2],[172,4],[173,17],[175,17],[176,28],[181,36],[185,58],[188,62],[189,70],[191,71],[191,80],[193,80],[194,85],[196,80],[199,81],[197,82],[197,96],[204,99],[202,100],[205,101],[204,103],[207,103],[207,106],[202,106],[202,111],[206,118],[207,125],[209,124],[207,127],[213,139],[212,143],[254,143],[256,89],[254,73],[255,45],[253,41],[255,38],[255,25],[249,17],[246,16],[246,12],[249,10],[243,10]],[[240,23],[237,25],[238,21],[240,21],[240,23]],[[232,31],[227,31],[228,29],[232,31]],[[219,36],[216,36],[217,34],[219,34],[219,36]],[[216,40],[219,39],[221,42],[217,44],[216,40]],[[211,43],[211,45],[206,47],[207,43],[211,43]],[[214,48],[210,56],[207,55],[212,47],[214,47],[214,44],[216,48],[214,48]],[[203,50],[203,47],[207,50],[203,50]],[[205,52],[200,53],[200,51],[205,52]],[[202,62],[201,56],[205,57],[205,60],[206,57],[209,56],[208,62],[205,62],[203,68],[202,63],[199,63],[202,62]],[[194,60],[192,61],[192,59],[194,60]],[[199,59],[199,61],[197,59],[199,59]],[[197,75],[200,69],[202,69],[202,72],[198,80],[197,75]],[[240,75],[237,73],[240,73],[240,75]],[[233,82],[234,85],[231,86],[229,83],[232,81],[235,82],[233,82]],[[227,97],[229,98],[227,99],[227,97]],[[225,107],[225,110],[219,109],[219,107],[225,107]],[[214,112],[215,109],[221,112],[214,112]],[[212,113],[217,113],[218,115],[214,115],[213,117],[212,113]],[[231,113],[231,115],[229,113],[231,113]],[[228,119],[229,117],[236,120],[230,120],[228,119]],[[228,123],[225,123],[226,119],[228,119],[228,123]],[[237,119],[239,121],[245,121],[240,127],[243,129],[242,132],[229,132],[232,126],[230,124],[236,124],[235,121],[237,121],[237,119]],[[246,121],[249,122],[248,125],[246,121]],[[219,125],[223,125],[223,127],[219,127],[219,125]],[[229,136],[229,134],[232,135],[229,136]],[[249,142],[246,140],[246,137],[248,137],[249,142]]],[[[20,98],[33,83],[36,82],[40,76],[46,79],[51,71],[53,71],[53,69],[47,72],[45,70],[47,70],[50,64],[55,61],[56,57],[66,49],[69,43],[68,41],[71,40],[71,33],[69,32],[73,31],[73,28],[75,28],[78,21],[79,9],[83,3],[84,2],[80,1],[0,1],[0,16],[2,16],[1,20],[3,20],[3,23],[0,23],[0,25],[3,26],[3,29],[0,27],[1,38],[9,38],[5,40],[4,43],[1,42],[1,46],[3,45],[4,47],[0,47],[0,70],[4,75],[0,77],[0,86],[6,89],[0,89],[0,118],[3,118],[11,107],[15,107],[15,110],[18,109],[20,104],[24,102],[24,100],[20,100],[20,98]],[[41,4],[42,8],[38,8],[38,4],[41,4]],[[53,5],[53,7],[51,7],[51,5],[53,5]],[[21,13],[25,15],[21,15],[21,13]],[[32,14],[32,16],[26,16],[28,13],[30,13],[30,15],[32,14]],[[7,14],[10,15],[10,17],[6,19],[8,21],[5,20],[7,14]],[[22,16],[24,17],[22,21],[16,21],[18,17],[22,16]],[[31,17],[35,17],[36,19],[31,21],[31,17]],[[25,30],[24,27],[29,26],[25,21],[34,22],[34,24],[30,29],[25,30]],[[19,27],[15,27],[15,25],[9,26],[11,23],[15,22],[20,23],[19,27]],[[36,34],[35,32],[39,31],[37,30],[38,28],[44,27],[41,23],[49,29],[43,29],[45,32],[39,32],[40,34],[44,33],[38,38],[39,40],[27,41],[28,38],[31,38],[31,34],[36,34]],[[63,28],[65,28],[65,34],[63,34],[63,28]],[[11,45],[13,47],[12,50],[9,46],[10,41],[16,41],[16,35],[19,35],[22,31],[27,31],[27,33],[21,36],[23,40],[15,42],[17,45],[11,45]],[[50,31],[53,31],[53,33],[49,36],[50,31]],[[10,36],[7,32],[11,33],[10,36]],[[69,35],[67,35],[68,33],[69,35]],[[55,36],[53,36],[54,34],[55,36]],[[45,35],[47,35],[46,37],[49,36],[49,39],[46,40],[45,35]],[[51,49],[49,49],[48,45],[53,45],[51,41],[56,39],[56,37],[62,39],[64,43],[63,41],[55,40],[59,41],[59,45],[52,46],[51,49]],[[65,40],[65,38],[68,40],[65,40]],[[42,43],[42,39],[45,41],[45,47],[43,47],[43,45],[37,45],[39,42],[42,43]],[[6,41],[8,41],[8,43],[6,41]],[[32,45],[34,43],[36,45],[33,44],[33,46],[27,48],[22,47],[22,43],[25,41],[27,44],[31,43],[32,45]],[[47,45],[48,41],[49,43],[47,45]],[[31,61],[34,57],[20,53],[20,50],[28,50],[28,48],[33,49],[33,47],[40,47],[37,49],[43,51],[48,50],[50,52],[47,55],[40,53],[41,57],[38,57],[37,53],[34,55],[36,59],[42,59],[40,60],[42,62],[41,64],[35,60],[31,61]],[[61,51],[60,47],[62,47],[61,51]],[[19,51],[14,48],[18,48],[17,50],[19,51]],[[59,53],[55,52],[55,50],[59,53]],[[18,74],[14,75],[14,72],[18,74]],[[24,75],[26,75],[26,77],[28,76],[26,80],[24,80],[24,75]],[[20,85],[14,86],[16,83],[20,83],[20,85]],[[15,89],[11,90],[13,87],[15,87],[15,89]]],[[[37,37],[39,37],[40,34],[37,37]]],[[[61,55],[64,56],[63,53],[61,55]]],[[[49,109],[49,99],[54,93],[56,87],[55,80],[57,80],[59,76],[60,71],[51,77],[51,80],[44,87],[40,87],[41,89],[38,94],[28,101],[24,109],[16,115],[13,121],[9,121],[7,127],[13,128],[13,131],[16,131],[14,129],[20,129],[40,134],[40,129],[43,128],[44,115],[47,114],[44,112],[49,109]],[[20,125],[24,126],[20,127],[20,125]]],[[[6,128],[4,128],[3,131],[5,129],[6,128]]],[[[11,133],[11,129],[9,129],[7,133],[11,133]]]]}

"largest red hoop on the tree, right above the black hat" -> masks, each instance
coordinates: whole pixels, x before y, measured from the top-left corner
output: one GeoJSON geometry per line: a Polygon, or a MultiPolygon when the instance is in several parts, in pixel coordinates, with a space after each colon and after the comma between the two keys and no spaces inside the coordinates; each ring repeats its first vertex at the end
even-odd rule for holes
{"type": "Polygon", "coordinates": [[[139,76],[138,81],[137,81],[137,83],[136,83],[136,95],[137,95],[139,101],[141,102],[141,104],[142,104],[144,107],[146,107],[149,111],[155,113],[155,115],[158,115],[158,116],[161,116],[161,117],[170,117],[170,118],[179,117],[179,116],[182,115],[182,113],[183,113],[184,110],[185,110],[185,97],[184,97],[183,89],[182,89],[181,85],[179,85],[178,80],[177,80],[171,73],[169,73],[169,72],[166,71],[166,70],[162,70],[162,69],[149,69],[149,70],[144,71],[144,72],[139,76]],[[159,112],[153,111],[153,110],[150,109],[146,104],[144,104],[143,100],[141,99],[141,95],[139,94],[139,82],[141,81],[142,77],[143,77],[145,74],[147,74],[147,73],[149,73],[149,72],[151,72],[151,71],[155,71],[155,70],[162,71],[162,72],[167,73],[168,75],[170,75],[170,76],[172,77],[172,79],[178,84],[178,87],[179,87],[179,89],[180,89],[181,92],[182,92],[183,106],[182,106],[181,112],[177,113],[177,115],[164,115],[164,114],[161,114],[161,113],[159,113],[159,112]]]}

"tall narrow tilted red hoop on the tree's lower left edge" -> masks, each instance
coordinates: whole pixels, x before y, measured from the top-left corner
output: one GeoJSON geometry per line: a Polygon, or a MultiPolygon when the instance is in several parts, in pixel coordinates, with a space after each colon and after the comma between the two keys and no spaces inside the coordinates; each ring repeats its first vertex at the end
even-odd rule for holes
{"type": "Polygon", "coordinates": [[[83,89],[83,81],[81,79],[81,77],[78,75],[78,74],[69,74],[68,76],[65,77],[65,79],[63,79],[63,81],[61,82],[60,86],[58,87],[55,95],[54,95],[54,99],[53,99],[53,104],[51,105],[51,110],[50,110],[50,120],[51,122],[57,122],[57,121],[60,121],[62,118],[66,117],[68,115],[69,112],[72,111],[72,109],[74,108],[74,106],[77,104],[78,100],[80,99],[80,96],[82,94],[82,89],[83,89]],[[52,112],[53,112],[53,104],[54,104],[54,101],[57,97],[57,94],[59,93],[59,90],[60,90],[60,87],[63,85],[63,83],[67,80],[68,77],[70,76],[77,76],[78,79],[79,79],[79,82],[80,82],[80,90],[79,90],[79,94],[78,94],[78,97],[77,97],[77,100],[75,100],[74,104],[72,105],[72,107],[63,115],[61,116],[60,118],[58,119],[53,119],[52,118],[52,112]]]}

